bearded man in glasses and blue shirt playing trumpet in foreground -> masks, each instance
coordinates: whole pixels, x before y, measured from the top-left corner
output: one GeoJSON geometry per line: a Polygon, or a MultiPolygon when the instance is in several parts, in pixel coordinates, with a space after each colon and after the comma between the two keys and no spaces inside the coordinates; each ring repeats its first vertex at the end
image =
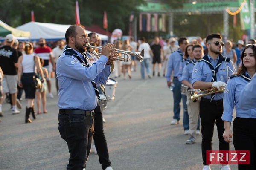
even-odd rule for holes
{"type": "Polygon", "coordinates": [[[67,46],[58,58],[56,74],[59,83],[58,130],[67,142],[70,153],[67,170],[82,170],[88,159],[93,138],[93,116],[99,90],[96,84],[106,84],[110,75],[110,56],[114,44],[102,47],[102,56],[90,63],[85,52],[90,38],[84,26],[72,25],[66,33],[67,46]]]}

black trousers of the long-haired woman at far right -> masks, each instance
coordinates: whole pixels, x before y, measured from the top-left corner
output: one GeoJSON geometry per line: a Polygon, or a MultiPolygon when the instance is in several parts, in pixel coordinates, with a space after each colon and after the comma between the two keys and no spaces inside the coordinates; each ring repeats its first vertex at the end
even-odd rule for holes
{"type": "Polygon", "coordinates": [[[233,122],[233,143],[236,150],[250,150],[250,164],[239,164],[239,170],[256,170],[256,119],[238,118],[233,122]]]}

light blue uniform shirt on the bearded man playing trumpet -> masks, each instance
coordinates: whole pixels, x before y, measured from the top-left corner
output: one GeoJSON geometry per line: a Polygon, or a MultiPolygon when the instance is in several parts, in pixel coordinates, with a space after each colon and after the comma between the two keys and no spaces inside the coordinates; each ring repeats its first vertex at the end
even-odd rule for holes
{"type": "MultiPolygon", "coordinates": [[[[74,50],[83,60],[81,53],[74,50]]],[[[58,58],[56,74],[59,84],[59,109],[93,110],[97,106],[97,97],[91,83],[106,84],[110,75],[108,58],[102,55],[89,67],[83,66],[74,56],[65,55],[58,58]]]]}

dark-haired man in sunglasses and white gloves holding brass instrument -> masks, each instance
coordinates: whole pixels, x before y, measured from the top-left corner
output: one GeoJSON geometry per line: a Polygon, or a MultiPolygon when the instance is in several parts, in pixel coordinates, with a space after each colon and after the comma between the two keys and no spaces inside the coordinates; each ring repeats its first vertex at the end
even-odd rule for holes
{"type": "MultiPolygon", "coordinates": [[[[233,62],[229,58],[221,55],[224,43],[219,33],[210,34],[206,38],[208,54],[199,60],[192,72],[192,86],[194,89],[209,89],[216,87],[218,89],[226,85],[228,77],[235,73],[233,62]]],[[[202,132],[202,156],[203,170],[211,170],[206,154],[207,150],[212,150],[212,137],[214,124],[218,130],[219,150],[229,150],[229,143],[224,141],[224,121],[221,120],[223,113],[223,93],[211,93],[201,97],[200,100],[200,118],[202,132]]],[[[230,170],[229,165],[222,164],[221,170],[230,170]]]]}

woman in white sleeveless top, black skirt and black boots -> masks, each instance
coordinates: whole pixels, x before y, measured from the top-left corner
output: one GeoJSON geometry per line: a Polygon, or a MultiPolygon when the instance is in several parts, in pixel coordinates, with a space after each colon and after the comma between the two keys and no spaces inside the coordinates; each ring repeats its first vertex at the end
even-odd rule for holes
{"type": "Polygon", "coordinates": [[[35,88],[32,87],[32,80],[33,76],[35,75],[35,66],[36,71],[42,78],[41,82],[44,82],[45,79],[41,69],[39,57],[33,54],[32,43],[25,44],[25,52],[26,54],[20,56],[18,59],[18,85],[21,88],[23,87],[25,91],[25,98],[27,99],[25,123],[31,123],[32,121],[29,118],[30,112],[32,113],[33,118],[35,119],[35,88]],[[23,72],[23,75],[21,75],[21,72],[23,72]]]}

